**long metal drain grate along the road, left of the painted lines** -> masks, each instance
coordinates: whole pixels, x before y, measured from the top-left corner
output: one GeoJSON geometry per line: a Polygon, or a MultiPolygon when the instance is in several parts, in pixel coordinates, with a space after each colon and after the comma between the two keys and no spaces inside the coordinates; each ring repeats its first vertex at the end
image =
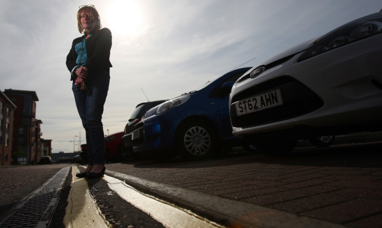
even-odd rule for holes
{"type": "Polygon", "coordinates": [[[71,166],[62,168],[1,218],[0,227],[47,227],[71,166]]]}

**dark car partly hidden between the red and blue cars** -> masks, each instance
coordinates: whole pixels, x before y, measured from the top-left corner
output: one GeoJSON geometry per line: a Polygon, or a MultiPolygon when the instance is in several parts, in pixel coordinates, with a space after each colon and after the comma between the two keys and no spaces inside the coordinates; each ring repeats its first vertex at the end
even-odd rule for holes
{"type": "Polygon", "coordinates": [[[167,100],[158,100],[158,101],[148,101],[143,102],[135,106],[134,111],[131,113],[131,116],[128,120],[128,123],[125,126],[124,134],[122,136],[122,141],[125,146],[125,150],[122,153],[122,157],[125,160],[132,160],[133,159],[133,153],[132,153],[132,143],[131,143],[131,132],[138,122],[141,121],[142,117],[145,115],[145,113],[152,107],[155,107],[158,104],[161,104],[163,102],[166,102],[167,100]]]}

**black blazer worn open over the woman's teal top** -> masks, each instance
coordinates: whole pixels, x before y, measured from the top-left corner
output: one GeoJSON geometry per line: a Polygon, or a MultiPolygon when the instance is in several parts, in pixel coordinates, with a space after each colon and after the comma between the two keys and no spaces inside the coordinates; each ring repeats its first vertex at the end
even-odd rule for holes
{"type": "MultiPolygon", "coordinates": [[[[92,36],[85,41],[88,61],[84,66],[88,68],[89,74],[92,72],[101,72],[113,67],[109,60],[110,49],[112,48],[112,33],[110,30],[103,28],[97,32],[91,33],[91,35],[92,36]]],[[[74,50],[74,46],[83,39],[84,36],[81,36],[73,40],[72,48],[66,57],[66,67],[70,72],[77,66],[75,63],[77,60],[77,53],[74,50]]],[[[70,80],[73,80],[73,77],[71,77],[70,80]]]]}

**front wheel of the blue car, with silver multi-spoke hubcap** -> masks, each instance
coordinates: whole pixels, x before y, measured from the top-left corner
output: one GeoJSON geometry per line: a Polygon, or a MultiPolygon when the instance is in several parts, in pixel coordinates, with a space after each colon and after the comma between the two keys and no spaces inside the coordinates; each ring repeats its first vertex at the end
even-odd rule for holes
{"type": "Polygon", "coordinates": [[[181,126],[177,144],[182,157],[205,158],[215,151],[216,136],[209,125],[193,121],[181,126]]]}

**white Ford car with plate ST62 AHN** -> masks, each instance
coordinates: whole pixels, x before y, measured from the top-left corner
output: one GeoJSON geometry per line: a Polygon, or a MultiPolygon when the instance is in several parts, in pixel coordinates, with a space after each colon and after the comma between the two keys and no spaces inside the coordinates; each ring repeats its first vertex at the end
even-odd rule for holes
{"type": "Polygon", "coordinates": [[[239,78],[233,135],[273,154],[298,138],[380,130],[382,12],[284,51],[239,78]]]}

